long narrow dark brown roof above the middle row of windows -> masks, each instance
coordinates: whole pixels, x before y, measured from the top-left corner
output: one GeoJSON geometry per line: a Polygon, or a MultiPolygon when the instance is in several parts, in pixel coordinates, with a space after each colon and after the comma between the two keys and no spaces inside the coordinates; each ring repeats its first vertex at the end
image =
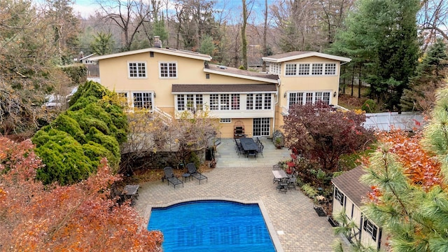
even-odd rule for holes
{"type": "Polygon", "coordinates": [[[276,86],[275,84],[173,84],[172,92],[174,94],[187,92],[276,92],[276,86]]]}

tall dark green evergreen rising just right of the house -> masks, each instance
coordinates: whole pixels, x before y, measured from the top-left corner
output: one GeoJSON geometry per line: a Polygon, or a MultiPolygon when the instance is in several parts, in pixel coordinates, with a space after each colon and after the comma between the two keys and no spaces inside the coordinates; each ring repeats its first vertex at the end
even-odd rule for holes
{"type": "Polygon", "coordinates": [[[400,97],[416,66],[416,0],[360,0],[346,20],[346,31],[336,36],[336,48],[362,70],[370,95],[400,110],[400,97]]]}

